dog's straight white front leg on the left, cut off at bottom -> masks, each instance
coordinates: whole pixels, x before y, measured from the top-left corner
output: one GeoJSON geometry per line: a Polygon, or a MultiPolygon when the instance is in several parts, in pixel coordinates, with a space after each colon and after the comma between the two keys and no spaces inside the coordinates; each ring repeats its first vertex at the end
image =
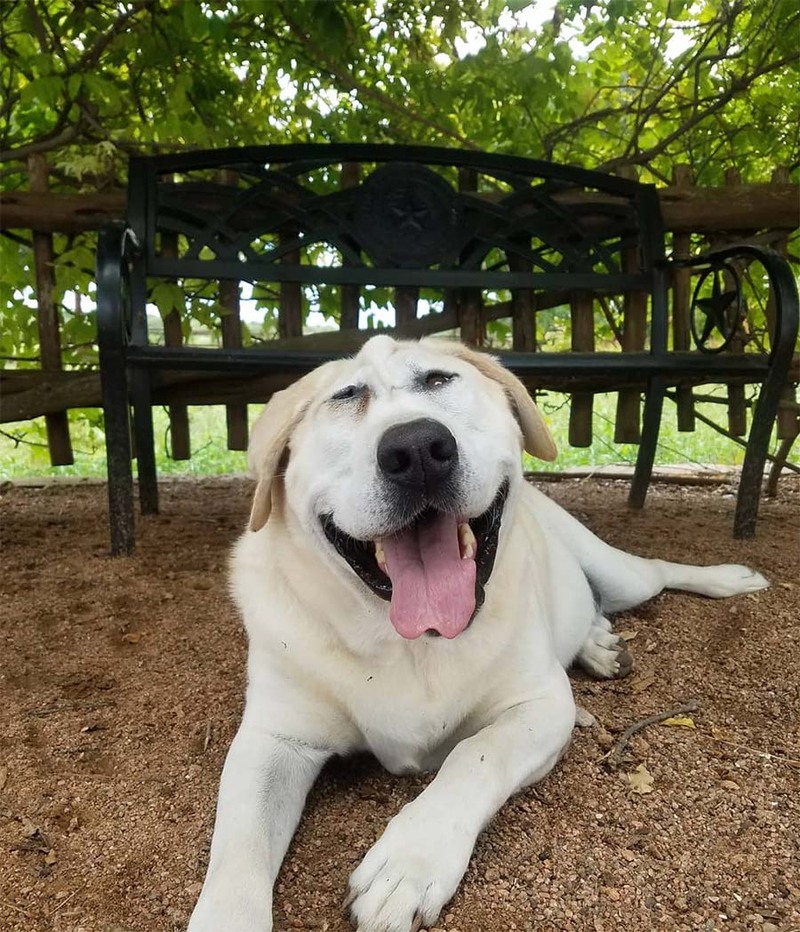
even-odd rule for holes
{"type": "Polygon", "coordinates": [[[329,756],[266,732],[245,713],[222,771],[208,873],[189,932],[270,932],[278,868],[329,756]]]}

